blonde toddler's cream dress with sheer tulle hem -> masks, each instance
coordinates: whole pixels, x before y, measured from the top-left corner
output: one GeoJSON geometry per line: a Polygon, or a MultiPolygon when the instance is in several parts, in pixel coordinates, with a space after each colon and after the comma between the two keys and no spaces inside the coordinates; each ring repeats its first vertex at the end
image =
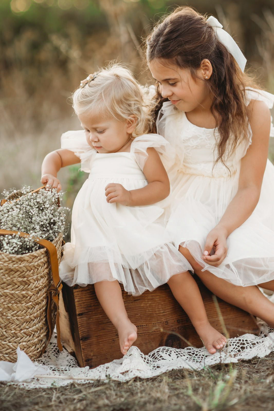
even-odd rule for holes
{"type": "Polygon", "coordinates": [[[88,145],[84,130],[70,131],[62,135],[61,147],[73,151],[81,170],[89,173],[72,208],[71,242],[64,246],[59,267],[63,281],[86,286],[118,280],[137,296],[191,269],[165,231],[169,199],[134,207],[106,201],[105,187],[111,182],[128,190],[147,185],[142,170],[148,147],[166,159],[172,156],[162,136],[142,135],[132,141],[130,152],[103,154],[88,145]]]}

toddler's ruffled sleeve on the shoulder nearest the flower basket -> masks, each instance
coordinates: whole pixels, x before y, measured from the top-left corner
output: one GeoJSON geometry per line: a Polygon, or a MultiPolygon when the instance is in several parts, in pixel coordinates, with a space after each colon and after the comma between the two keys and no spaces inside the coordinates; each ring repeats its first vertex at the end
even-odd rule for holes
{"type": "Polygon", "coordinates": [[[91,160],[94,158],[96,150],[88,145],[84,130],[63,133],[61,136],[61,148],[73,151],[81,160],[81,171],[90,173],[91,160]]]}

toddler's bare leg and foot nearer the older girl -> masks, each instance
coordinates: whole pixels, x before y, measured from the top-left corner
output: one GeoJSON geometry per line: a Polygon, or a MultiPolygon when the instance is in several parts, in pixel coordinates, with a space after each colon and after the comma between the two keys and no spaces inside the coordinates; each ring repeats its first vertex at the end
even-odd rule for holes
{"type": "Polygon", "coordinates": [[[210,354],[225,346],[226,338],[213,328],[204,309],[199,288],[192,275],[186,271],[173,275],[167,282],[181,307],[188,314],[195,330],[210,354]]]}

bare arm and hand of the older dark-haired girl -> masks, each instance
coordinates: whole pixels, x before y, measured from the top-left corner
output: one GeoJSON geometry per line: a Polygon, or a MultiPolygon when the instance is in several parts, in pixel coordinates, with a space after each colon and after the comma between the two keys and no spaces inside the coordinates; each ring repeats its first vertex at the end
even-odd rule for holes
{"type": "MultiPolygon", "coordinates": [[[[249,106],[249,123],[252,131],[252,144],[241,159],[239,186],[223,217],[207,236],[205,251],[210,252],[213,245],[215,254],[206,255],[204,261],[214,266],[221,264],[227,253],[226,238],[241,226],[252,214],[259,198],[262,179],[267,162],[270,112],[262,101],[252,101],[249,106]]],[[[207,254],[207,253],[206,253],[207,254]]]]}

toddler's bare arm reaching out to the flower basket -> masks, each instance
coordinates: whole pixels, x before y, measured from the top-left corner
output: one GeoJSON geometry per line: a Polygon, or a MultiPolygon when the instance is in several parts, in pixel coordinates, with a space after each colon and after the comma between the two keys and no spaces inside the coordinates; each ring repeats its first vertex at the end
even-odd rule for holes
{"type": "Polygon", "coordinates": [[[51,188],[56,188],[57,192],[59,192],[62,187],[57,178],[58,171],[61,167],[77,164],[79,162],[79,157],[70,150],[61,148],[60,150],[50,152],[42,162],[42,184],[51,185],[51,188]]]}

